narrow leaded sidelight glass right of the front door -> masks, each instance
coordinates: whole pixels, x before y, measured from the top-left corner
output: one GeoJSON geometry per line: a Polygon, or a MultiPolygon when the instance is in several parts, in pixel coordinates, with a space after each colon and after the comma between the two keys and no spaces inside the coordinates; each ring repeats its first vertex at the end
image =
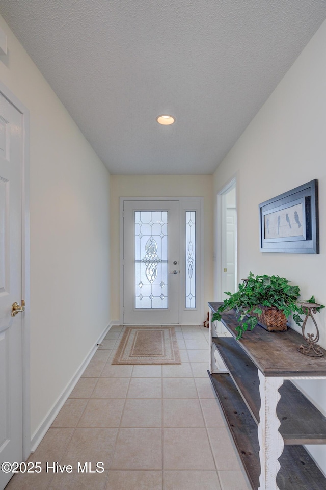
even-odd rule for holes
{"type": "Polygon", "coordinates": [[[196,211],[186,211],[185,221],[185,307],[196,308],[196,211]]]}

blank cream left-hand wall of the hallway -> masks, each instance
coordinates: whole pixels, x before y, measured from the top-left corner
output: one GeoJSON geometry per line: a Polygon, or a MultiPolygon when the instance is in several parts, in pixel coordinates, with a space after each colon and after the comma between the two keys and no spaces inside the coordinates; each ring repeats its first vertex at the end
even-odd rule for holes
{"type": "Polygon", "coordinates": [[[0,80],[30,111],[32,438],[110,322],[110,175],[0,17],[0,80]]]}

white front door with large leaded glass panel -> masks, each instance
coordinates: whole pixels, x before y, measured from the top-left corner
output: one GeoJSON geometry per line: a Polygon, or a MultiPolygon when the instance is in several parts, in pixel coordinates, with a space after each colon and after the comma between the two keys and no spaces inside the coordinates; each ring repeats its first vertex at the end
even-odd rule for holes
{"type": "Polygon", "coordinates": [[[179,202],[124,201],[123,321],[179,323],[179,202]]]}

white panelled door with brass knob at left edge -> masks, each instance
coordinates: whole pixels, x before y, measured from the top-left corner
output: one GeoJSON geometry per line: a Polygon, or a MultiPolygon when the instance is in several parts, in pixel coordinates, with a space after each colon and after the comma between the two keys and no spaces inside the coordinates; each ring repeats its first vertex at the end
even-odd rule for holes
{"type": "MultiPolygon", "coordinates": [[[[22,460],[22,116],[0,95],[0,461],[22,460]]],[[[0,471],[2,490],[11,473],[0,471]]]]}

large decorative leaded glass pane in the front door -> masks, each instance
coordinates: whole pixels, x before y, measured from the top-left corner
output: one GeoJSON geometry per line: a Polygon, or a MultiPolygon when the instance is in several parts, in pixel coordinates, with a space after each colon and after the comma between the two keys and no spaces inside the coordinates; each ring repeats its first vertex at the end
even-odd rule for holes
{"type": "Polygon", "coordinates": [[[135,211],[135,309],[168,308],[168,211],[135,211]]]}

